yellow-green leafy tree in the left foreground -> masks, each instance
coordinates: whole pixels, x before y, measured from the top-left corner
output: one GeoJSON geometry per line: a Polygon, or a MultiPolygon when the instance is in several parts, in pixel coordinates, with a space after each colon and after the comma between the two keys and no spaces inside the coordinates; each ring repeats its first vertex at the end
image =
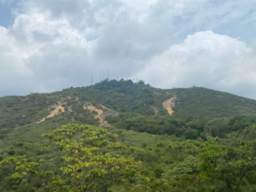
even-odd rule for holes
{"type": "Polygon", "coordinates": [[[117,150],[134,152],[136,148],[115,142],[117,134],[104,129],[94,129],[89,125],[64,125],[61,129],[44,134],[49,139],[44,150],[59,149],[65,160],[60,172],[41,172],[42,162],[27,162],[24,156],[9,157],[1,165],[15,163],[13,177],[20,181],[28,174],[44,177],[51,174],[49,183],[66,191],[107,191],[114,184],[131,185],[132,179],[139,177],[133,158],[117,153],[117,150]],[[79,141],[79,142],[78,142],[79,141]]]}

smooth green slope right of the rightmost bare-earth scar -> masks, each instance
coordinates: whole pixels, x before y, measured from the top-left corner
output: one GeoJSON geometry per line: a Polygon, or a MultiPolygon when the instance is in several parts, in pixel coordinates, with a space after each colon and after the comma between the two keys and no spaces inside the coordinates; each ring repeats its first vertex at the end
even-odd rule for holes
{"type": "Polygon", "coordinates": [[[256,101],[206,88],[189,88],[177,90],[175,116],[194,118],[230,117],[236,114],[256,113],[256,101]]]}

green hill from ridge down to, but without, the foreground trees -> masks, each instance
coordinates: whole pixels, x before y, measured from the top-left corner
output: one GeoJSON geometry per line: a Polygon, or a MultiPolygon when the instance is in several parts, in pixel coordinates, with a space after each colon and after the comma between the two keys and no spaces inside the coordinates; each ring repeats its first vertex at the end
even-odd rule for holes
{"type": "MultiPolygon", "coordinates": [[[[105,80],[53,93],[4,96],[0,98],[0,161],[26,155],[29,161],[45,160],[43,170],[59,173],[59,166],[63,165],[61,154],[57,148],[42,151],[42,145],[49,141],[41,135],[69,123],[103,126],[108,132],[119,134],[118,142],[138,148],[136,153],[122,153],[142,161],[140,173],[150,178],[151,190],[146,191],[165,191],[154,187],[164,186],[161,179],[170,182],[172,177],[169,178],[168,172],[178,177],[183,177],[179,174],[185,172],[183,180],[174,183],[177,191],[199,191],[201,184],[195,182],[199,174],[195,166],[198,160],[180,156],[172,151],[170,143],[190,139],[189,143],[200,146],[212,135],[219,137],[220,143],[229,144],[230,131],[256,125],[255,113],[256,101],[241,96],[200,87],[161,90],[131,80],[105,80]],[[189,184],[183,184],[188,181],[189,184]]],[[[27,177],[19,185],[10,177],[13,172],[14,166],[0,166],[0,190],[55,189],[39,177],[27,177]]],[[[249,183],[249,188],[244,187],[242,191],[255,189],[252,185],[255,174],[253,177],[250,174],[242,183],[243,186],[249,183]]],[[[208,185],[205,183],[203,187],[208,185]]]]}

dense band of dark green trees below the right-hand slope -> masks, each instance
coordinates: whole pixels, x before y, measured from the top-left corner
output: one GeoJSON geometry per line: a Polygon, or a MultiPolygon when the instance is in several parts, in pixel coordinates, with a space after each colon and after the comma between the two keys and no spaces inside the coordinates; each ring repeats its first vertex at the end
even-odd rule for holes
{"type": "MultiPolygon", "coordinates": [[[[191,117],[191,116],[190,116],[191,117]]],[[[187,139],[208,136],[224,138],[230,131],[243,131],[246,127],[256,125],[256,115],[236,115],[231,119],[205,117],[202,119],[177,119],[170,115],[143,116],[134,113],[120,113],[108,116],[108,123],[119,129],[148,132],[159,135],[175,135],[187,139]]]]}

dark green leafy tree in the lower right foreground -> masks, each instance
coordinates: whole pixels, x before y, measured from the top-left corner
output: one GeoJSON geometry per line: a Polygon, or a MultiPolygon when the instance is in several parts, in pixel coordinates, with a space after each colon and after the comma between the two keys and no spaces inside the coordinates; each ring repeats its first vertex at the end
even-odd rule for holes
{"type": "Polygon", "coordinates": [[[199,157],[200,176],[215,191],[239,191],[242,179],[255,174],[256,126],[230,135],[230,143],[220,144],[218,137],[208,137],[198,144],[189,141],[170,143],[168,146],[179,154],[199,157]]]}

